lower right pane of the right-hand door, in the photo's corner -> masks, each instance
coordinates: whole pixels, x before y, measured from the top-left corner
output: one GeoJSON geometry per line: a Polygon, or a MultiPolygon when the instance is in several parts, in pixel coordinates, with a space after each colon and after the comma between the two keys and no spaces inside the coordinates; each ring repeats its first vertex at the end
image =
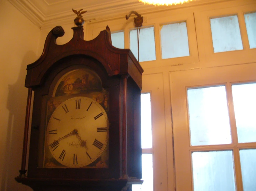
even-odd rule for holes
{"type": "Polygon", "coordinates": [[[240,150],[244,191],[256,190],[256,149],[240,150]]]}

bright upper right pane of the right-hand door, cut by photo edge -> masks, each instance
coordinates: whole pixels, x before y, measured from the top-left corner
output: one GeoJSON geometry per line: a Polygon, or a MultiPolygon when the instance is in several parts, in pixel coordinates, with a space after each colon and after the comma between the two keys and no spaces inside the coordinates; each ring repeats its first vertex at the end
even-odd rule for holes
{"type": "Polygon", "coordinates": [[[256,83],[232,86],[238,142],[256,142],[256,83]]]}

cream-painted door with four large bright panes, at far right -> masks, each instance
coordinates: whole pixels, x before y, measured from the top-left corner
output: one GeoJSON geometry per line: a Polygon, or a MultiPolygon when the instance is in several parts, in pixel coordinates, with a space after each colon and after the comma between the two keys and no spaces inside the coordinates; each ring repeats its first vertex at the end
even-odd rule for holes
{"type": "Polygon", "coordinates": [[[170,89],[176,191],[254,191],[256,63],[170,72],[170,89]]]}

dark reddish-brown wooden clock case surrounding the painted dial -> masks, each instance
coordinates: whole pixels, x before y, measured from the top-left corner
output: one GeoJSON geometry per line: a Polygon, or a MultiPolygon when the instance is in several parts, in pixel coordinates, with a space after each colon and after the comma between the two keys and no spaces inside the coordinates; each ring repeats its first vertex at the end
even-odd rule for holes
{"type": "Polygon", "coordinates": [[[73,27],[73,38],[56,44],[64,35],[62,27],[48,34],[41,57],[27,66],[25,87],[29,88],[24,133],[23,158],[16,181],[34,190],[131,190],[141,184],[141,118],[140,92],[142,72],[130,49],[112,46],[107,27],[93,40],[83,40],[83,27],[73,27]],[[53,85],[64,73],[90,68],[109,91],[109,167],[108,168],[43,168],[46,99],[53,85]],[[26,145],[31,93],[34,91],[32,128],[27,176],[26,145]]]}

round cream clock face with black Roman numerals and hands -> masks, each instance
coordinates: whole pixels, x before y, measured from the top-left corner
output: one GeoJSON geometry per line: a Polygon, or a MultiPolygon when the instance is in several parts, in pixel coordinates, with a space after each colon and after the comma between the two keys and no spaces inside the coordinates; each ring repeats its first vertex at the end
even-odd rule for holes
{"type": "Polygon", "coordinates": [[[46,142],[61,164],[78,168],[91,164],[106,148],[108,117],[101,105],[87,97],[61,103],[47,125],[46,142]]]}

